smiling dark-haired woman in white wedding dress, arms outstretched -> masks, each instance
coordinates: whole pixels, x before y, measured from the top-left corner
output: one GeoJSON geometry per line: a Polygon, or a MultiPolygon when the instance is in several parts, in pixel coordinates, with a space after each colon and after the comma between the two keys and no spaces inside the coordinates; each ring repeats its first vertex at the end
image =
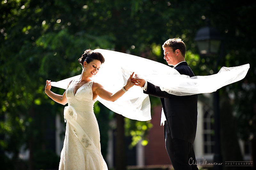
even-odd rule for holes
{"type": "Polygon", "coordinates": [[[71,80],[63,95],[51,91],[51,81],[46,81],[45,93],[55,102],[67,104],[64,119],[67,121],[59,169],[108,169],[100,151],[100,131],[93,112],[96,98],[116,101],[133,86],[130,78],[115,94],[92,81],[105,59],[100,52],[85,50],[78,62],[83,66],[79,79],[71,80]]]}

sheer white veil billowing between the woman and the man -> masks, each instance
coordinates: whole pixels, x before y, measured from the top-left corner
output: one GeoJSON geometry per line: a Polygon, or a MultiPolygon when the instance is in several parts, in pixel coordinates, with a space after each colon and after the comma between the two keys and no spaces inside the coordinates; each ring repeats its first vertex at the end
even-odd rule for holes
{"type": "MultiPolygon", "coordinates": [[[[112,93],[126,84],[132,72],[161,87],[162,91],[173,95],[212,93],[223,86],[242,80],[250,68],[249,64],[237,67],[222,67],[217,74],[189,77],[180,75],[177,70],[170,66],[146,58],[111,50],[96,49],[93,51],[100,52],[105,58],[105,62],[92,80],[100,83],[104,86],[104,89],[112,93]]],[[[79,79],[79,77],[80,75],[77,75],[52,82],[52,86],[67,89],[68,83],[73,79],[79,79]]],[[[140,121],[151,119],[149,97],[138,86],[129,89],[115,102],[109,102],[100,97],[97,100],[113,112],[122,114],[129,119],[140,121]]]]}

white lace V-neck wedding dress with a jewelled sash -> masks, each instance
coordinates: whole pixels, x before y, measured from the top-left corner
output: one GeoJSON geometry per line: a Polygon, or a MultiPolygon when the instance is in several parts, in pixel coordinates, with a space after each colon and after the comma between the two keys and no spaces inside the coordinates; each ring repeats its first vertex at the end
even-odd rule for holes
{"type": "Polygon", "coordinates": [[[67,121],[65,140],[60,155],[61,170],[107,170],[100,151],[100,131],[93,112],[93,81],[81,86],[74,93],[74,81],[66,91],[68,106],[64,109],[67,121]]]}

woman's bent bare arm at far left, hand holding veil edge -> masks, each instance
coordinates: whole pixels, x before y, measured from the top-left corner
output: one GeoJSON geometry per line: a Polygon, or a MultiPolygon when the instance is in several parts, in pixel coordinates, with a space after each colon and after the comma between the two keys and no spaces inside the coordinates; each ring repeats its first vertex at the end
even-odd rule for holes
{"type": "Polygon", "coordinates": [[[45,86],[45,89],[44,89],[44,92],[47,94],[47,96],[49,96],[52,100],[54,100],[57,103],[60,103],[60,104],[63,104],[63,105],[68,103],[68,100],[67,100],[67,97],[66,97],[66,91],[63,93],[63,95],[58,95],[56,93],[53,93],[51,91],[51,88],[52,88],[51,81],[47,80],[46,81],[46,86],[45,86]]]}

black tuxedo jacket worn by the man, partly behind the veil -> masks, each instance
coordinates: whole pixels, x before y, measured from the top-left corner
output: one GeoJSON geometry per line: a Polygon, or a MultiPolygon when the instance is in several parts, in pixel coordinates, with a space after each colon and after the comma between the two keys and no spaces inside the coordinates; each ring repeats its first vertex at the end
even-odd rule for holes
{"type": "MultiPolygon", "coordinates": [[[[175,69],[180,74],[195,76],[187,62],[181,62],[175,69]]],[[[197,95],[175,96],[162,91],[150,82],[148,82],[147,91],[143,90],[143,92],[160,97],[166,117],[164,126],[168,126],[172,138],[194,143],[197,126],[197,95]]]]}

